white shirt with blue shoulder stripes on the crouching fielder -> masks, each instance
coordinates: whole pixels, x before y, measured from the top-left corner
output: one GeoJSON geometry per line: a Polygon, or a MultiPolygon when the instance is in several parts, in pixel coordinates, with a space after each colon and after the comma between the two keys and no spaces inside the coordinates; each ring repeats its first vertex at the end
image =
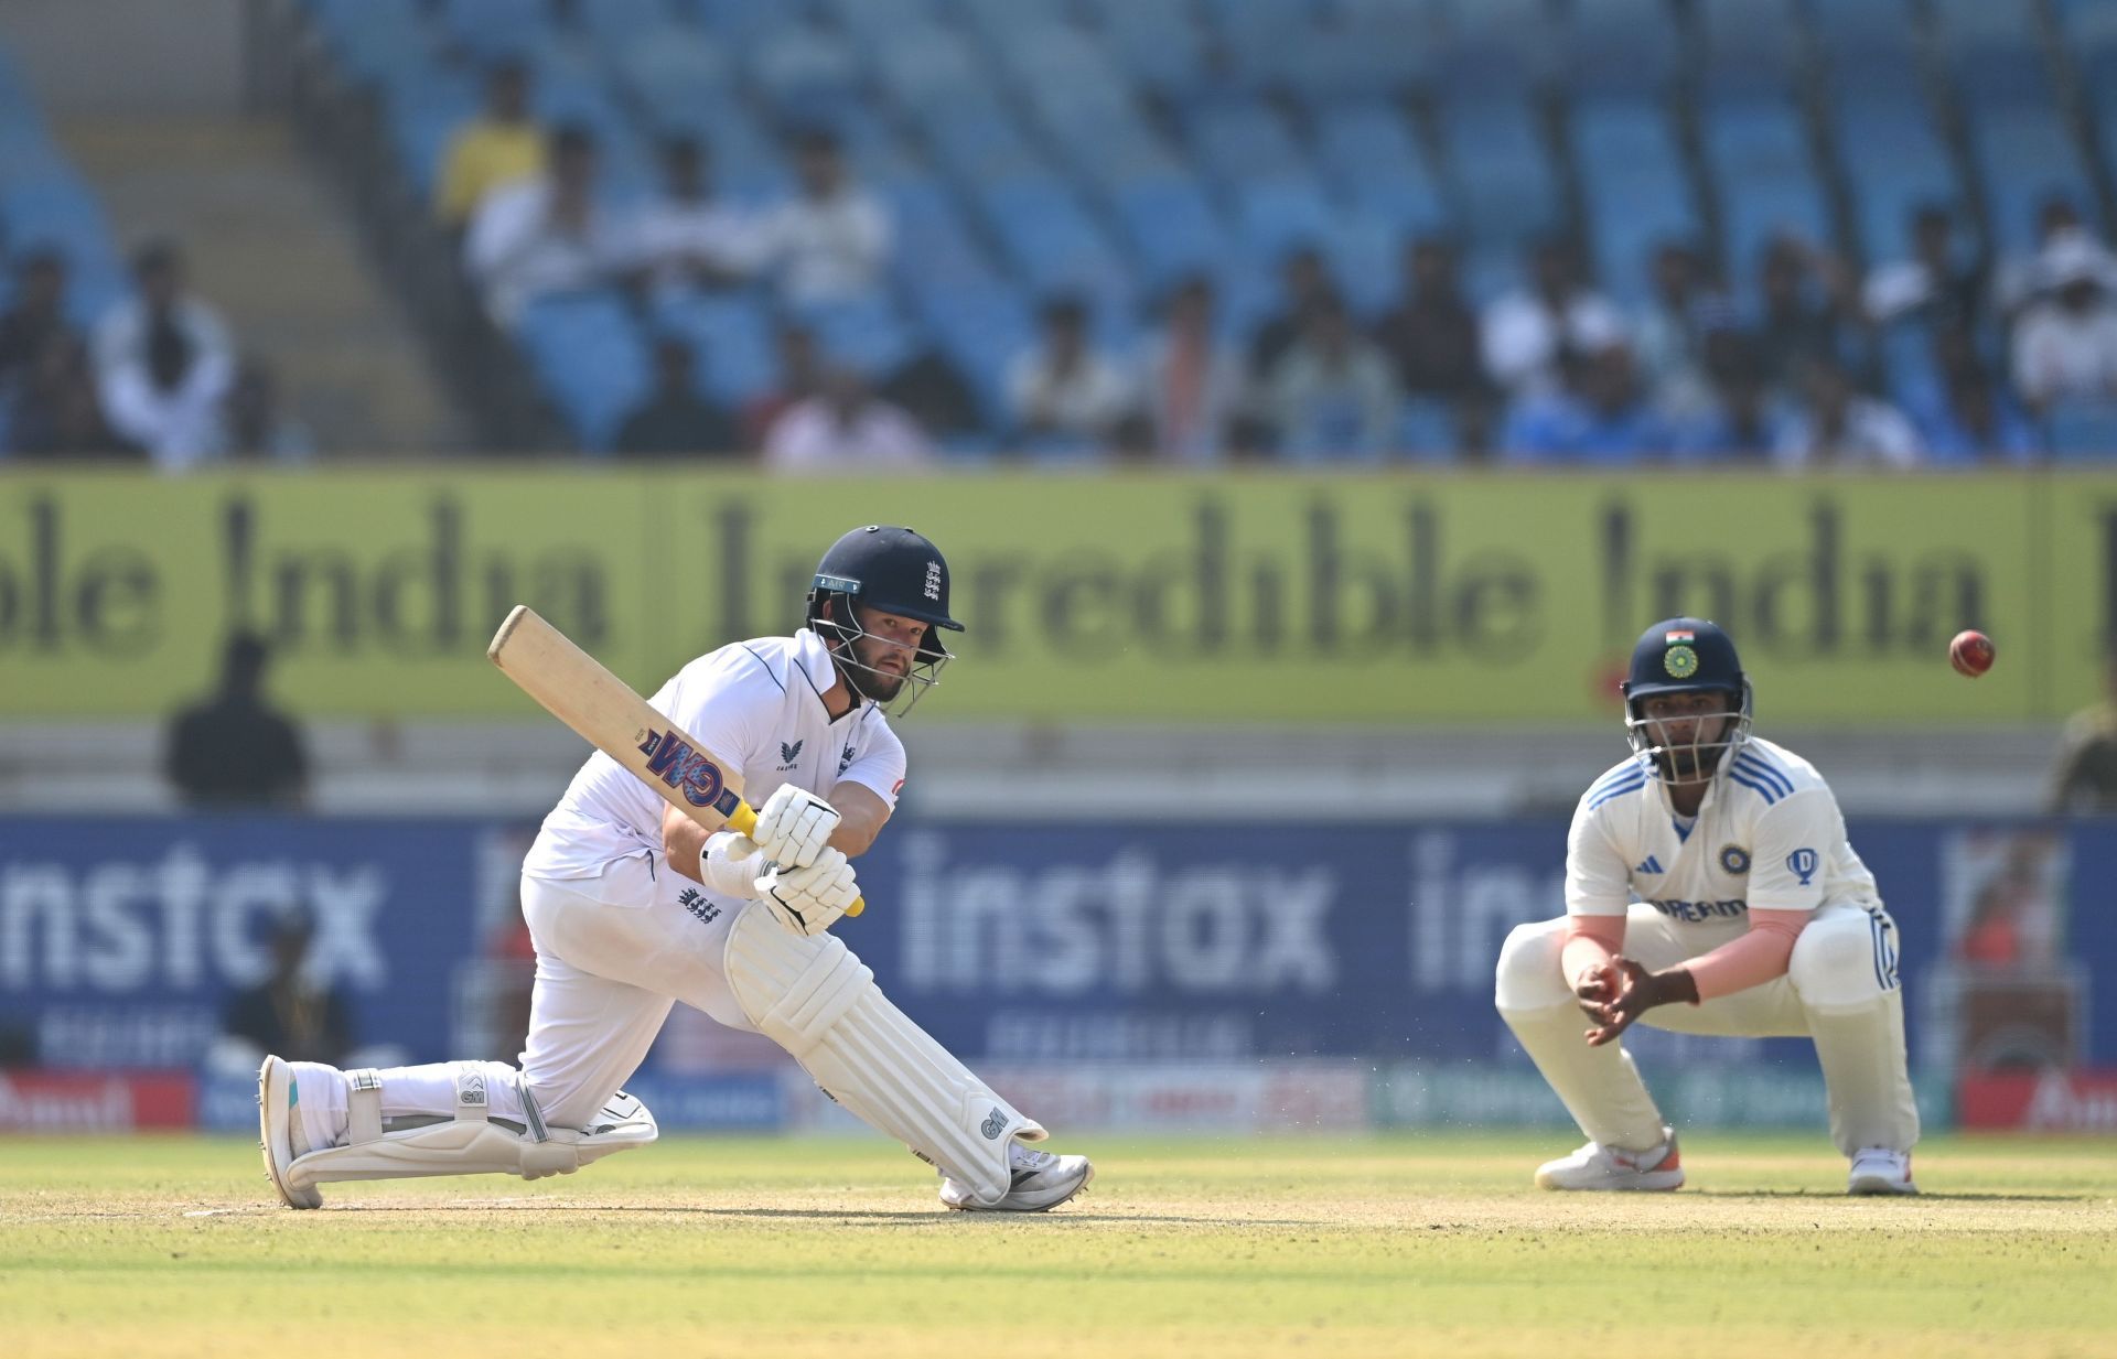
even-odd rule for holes
{"type": "Polygon", "coordinates": [[[1622,917],[1645,902],[1698,953],[1749,929],[1749,912],[1880,904],[1814,764],[1751,737],[1685,828],[1645,756],[1596,779],[1567,836],[1567,914],[1622,917]]]}

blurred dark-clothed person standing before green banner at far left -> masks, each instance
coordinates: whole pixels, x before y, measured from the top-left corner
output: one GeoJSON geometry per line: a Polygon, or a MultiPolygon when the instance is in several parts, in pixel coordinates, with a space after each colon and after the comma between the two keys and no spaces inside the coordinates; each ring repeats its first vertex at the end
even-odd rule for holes
{"type": "Polygon", "coordinates": [[[301,730],[265,701],[271,654],[252,633],[229,637],[220,688],[169,724],[163,773],[191,807],[298,807],[309,758],[301,730]]]}

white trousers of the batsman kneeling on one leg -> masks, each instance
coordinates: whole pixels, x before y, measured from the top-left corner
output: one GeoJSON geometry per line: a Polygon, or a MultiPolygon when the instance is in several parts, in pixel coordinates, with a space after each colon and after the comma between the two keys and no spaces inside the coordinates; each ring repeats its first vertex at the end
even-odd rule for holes
{"type": "MultiPolygon", "coordinates": [[[[605,866],[597,878],[525,874],[523,919],[536,942],[536,986],[521,1069],[387,1067],[379,1073],[383,1118],[453,1118],[455,1075],[476,1065],[487,1075],[493,1118],[529,1122],[517,1094],[521,1080],[546,1124],[582,1128],[646,1061],[675,1001],[754,1033],[722,972],[728,929],[752,908],[762,910],[709,893],[646,851],[605,866]]],[[[305,1069],[307,1063],[298,1067],[305,1069]]],[[[343,1080],[303,1080],[311,1141],[345,1137],[345,1099],[343,1080]]]]}

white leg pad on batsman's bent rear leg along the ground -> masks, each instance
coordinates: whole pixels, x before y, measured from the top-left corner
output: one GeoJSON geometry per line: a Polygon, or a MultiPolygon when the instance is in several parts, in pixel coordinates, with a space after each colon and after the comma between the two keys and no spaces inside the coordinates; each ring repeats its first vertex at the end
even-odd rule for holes
{"type": "Polygon", "coordinates": [[[631,1094],[614,1094],[589,1128],[546,1128],[523,1090],[529,1124],[517,1132],[487,1120],[483,1063],[464,1063],[455,1077],[455,1118],[381,1130],[381,1082],[373,1071],[347,1071],[347,1141],[296,1158],[286,1181],[294,1190],[345,1179],[419,1179],[428,1175],[502,1173],[523,1179],[572,1175],[580,1166],[654,1141],[654,1116],[631,1094]]]}

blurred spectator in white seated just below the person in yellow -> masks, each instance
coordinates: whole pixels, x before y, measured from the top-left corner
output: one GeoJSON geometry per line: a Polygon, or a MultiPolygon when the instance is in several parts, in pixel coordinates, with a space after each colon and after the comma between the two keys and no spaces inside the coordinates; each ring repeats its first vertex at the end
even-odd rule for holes
{"type": "Polygon", "coordinates": [[[618,262],[618,239],[597,203],[595,133],[567,125],[553,133],[550,169],[485,199],[464,241],[464,262],[485,309],[512,328],[531,301],[595,288],[618,262]]]}

